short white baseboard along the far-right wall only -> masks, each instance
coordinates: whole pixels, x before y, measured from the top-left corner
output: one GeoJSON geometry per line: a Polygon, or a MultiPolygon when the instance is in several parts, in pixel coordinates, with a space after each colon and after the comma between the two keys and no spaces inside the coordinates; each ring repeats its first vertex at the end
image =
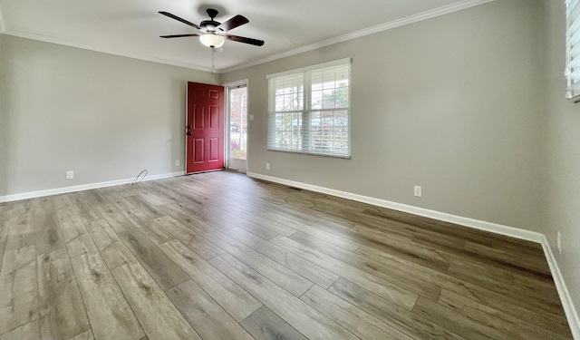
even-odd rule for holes
{"type": "Polygon", "coordinates": [[[560,268],[556,262],[556,257],[552,253],[552,248],[545,235],[542,235],[542,248],[544,249],[544,254],[546,254],[547,264],[550,267],[550,272],[552,273],[552,278],[554,278],[554,283],[556,283],[556,289],[558,290],[558,295],[562,301],[562,306],[564,307],[565,316],[568,320],[568,325],[570,325],[570,330],[572,331],[572,337],[575,340],[580,340],[580,318],[576,312],[574,302],[572,302],[572,297],[568,292],[568,288],[565,287],[564,277],[560,272],[560,268]]]}

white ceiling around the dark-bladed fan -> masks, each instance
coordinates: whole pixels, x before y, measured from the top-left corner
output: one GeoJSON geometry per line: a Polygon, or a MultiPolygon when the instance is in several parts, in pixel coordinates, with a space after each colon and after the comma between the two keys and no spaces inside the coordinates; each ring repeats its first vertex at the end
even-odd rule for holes
{"type": "Polygon", "coordinates": [[[161,39],[162,34],[198,33],[159,11],[192,23],[244,15],[249,24],[230,34],[266,41],[261,47],[227,41],[215,68],[227,72],[304,52],[356,36],[444,15],[492,0],[0,0],[0,30],[46,42],[81,47],[208,71],[211,50],[197,37],[161,39]]]}

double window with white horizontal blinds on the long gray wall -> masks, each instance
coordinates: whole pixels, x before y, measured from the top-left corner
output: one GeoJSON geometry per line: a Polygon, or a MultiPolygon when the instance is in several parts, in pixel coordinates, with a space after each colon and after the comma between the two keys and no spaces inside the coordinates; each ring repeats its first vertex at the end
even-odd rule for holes
{"type": "Polygon", "coordinates": [[[268,150],[350,158],[350,58],[267,78],[268,150]]]}

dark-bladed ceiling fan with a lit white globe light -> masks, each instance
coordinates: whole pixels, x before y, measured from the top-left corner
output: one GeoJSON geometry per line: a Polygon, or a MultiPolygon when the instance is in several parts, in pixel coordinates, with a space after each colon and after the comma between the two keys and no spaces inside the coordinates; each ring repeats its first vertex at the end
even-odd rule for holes
{"type": "Polygon", "coordinates": [[[160,35],[160,37],[181,38],[186,36],[198,36],[201,44],[204,44],[212,49],[221,47],[226,42],[226,39],[238,43],[253,44],[256,46],[262,46],[264,44],[263,40],[226,34],[227,31],[233,30],[234,28],[241,26],[242,24],[249,23],[249,20],[247,20],[247,18],[244,15],[236,15],[224,23],[218,23],[217,21],[214,20],[214,18],[218,16],[218,11],[209,8],[207,12],[209,15],[209,20],[204,20],[199,24],[190,23],[189,21],[182,19],[177,15],[172,15],[168,12],[160,12],[161,15],[169,16],[171,19],[175,19],[183,24],[189,24],[191,27],[195,27],[199,31],[201,31],[200,34],[173,34],[173,35],[160,35]]]}

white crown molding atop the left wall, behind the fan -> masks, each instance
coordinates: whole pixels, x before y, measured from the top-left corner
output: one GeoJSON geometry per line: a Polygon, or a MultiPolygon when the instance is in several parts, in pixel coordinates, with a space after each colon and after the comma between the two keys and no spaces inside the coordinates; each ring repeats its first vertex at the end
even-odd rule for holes
{"type": "MultiPolygon", "coordinates": [[[[27,32],[24,32],[24,33],[23,32],[13,32],[10,30],[3,32],[3,34],[18,36],[20,38],[25,38],[25,39],[38,40],[38,41],[41,41],[44,43],[61,44],[64,46],[80,48],[82,50],[118,55],[118,56],[122,56],[122,57],[127,57],[127,58],[131,58],[131,59],[138,59],[138,60],[151,62],[151,63],[163,63],[163,64],[183,67],[183,68],[187,68],[187,69],[191,69],[191,70],[197,70],[197,71],[202,71],[202,72],[207,72],[207,73],[211,72],[211,69],[209,69],[209,68],[198,67],[196,65],[192,65],[189,63],[179,63],[179,62],[175,62],[175,61],[168,60],[168,59],[152,58],[149,56],[135,54],[135,53],[113,51],[113,50],[108,50],[106,48],[100,48],[97,46],[93,46],[91,44],[76,44],[76,43],[67,42],[67,41],[64,41],[64,40],[61,40],[61,39],[58,39],[58,38],[55,38],[55,37],[49,36],[49,35],[34,34],[34,33],[27,33],[27,32]]],[[[214,70],[214,73],[216,73],[215,70],[214,70]]]]}

